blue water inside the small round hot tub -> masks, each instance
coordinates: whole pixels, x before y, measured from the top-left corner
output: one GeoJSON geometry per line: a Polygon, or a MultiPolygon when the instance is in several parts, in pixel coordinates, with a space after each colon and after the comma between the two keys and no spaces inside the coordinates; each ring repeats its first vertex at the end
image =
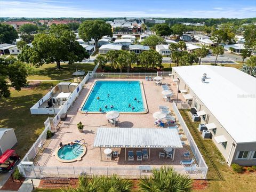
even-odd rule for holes
{"type": "Polygon", "coordinates": [[[59,158],[65,159],[65,160],[71,160],[71,159],[77,158],[79,155],[83,153],[83,150],[84,150],[83,147],[79,148],[80,146],[81,145],[79,144],[74,144],[72,147],[70,147],[70,145],[66,145],[62,147],[58,151],[59,158]]]}

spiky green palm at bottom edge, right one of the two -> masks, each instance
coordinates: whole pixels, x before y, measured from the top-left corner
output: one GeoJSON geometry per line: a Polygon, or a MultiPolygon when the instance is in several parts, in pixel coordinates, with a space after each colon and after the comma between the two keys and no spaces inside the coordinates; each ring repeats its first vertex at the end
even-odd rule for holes
{"type": "Polygon", "coordinates": [[[193,180],[187,175],[175,172],[172,167],[161,167],[153,170],[150,178],[139,180],[139,191],[162,192],[162,191],[191,191],[193,180]]]}

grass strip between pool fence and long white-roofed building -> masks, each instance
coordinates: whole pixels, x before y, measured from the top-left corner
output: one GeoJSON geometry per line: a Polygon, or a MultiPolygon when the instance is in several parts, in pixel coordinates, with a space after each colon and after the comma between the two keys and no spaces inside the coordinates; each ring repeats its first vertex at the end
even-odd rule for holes
{"type": "Polygon", "coordinates": [[[188,110],[180,110],[180,113],[201,151],[206,164],[209,166],[207,173],[209,185],[204,191],[254,191],[256,188],[256,172],[238,174],[231,170],[213,141],[202,139],[197,130],[199,123],[191,122],[188,110]]]}

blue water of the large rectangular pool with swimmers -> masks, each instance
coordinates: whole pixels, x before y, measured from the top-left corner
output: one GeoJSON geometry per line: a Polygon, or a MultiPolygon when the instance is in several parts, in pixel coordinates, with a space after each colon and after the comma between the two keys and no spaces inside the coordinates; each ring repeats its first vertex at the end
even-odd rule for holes
{"type": "Polygon", "coordinates": [[[97,81],[82,107],[82,111],[142,112],[143,99],[139,81],[97,81]],[[109,97],[108,97],[109,94],[109,97]],[[97,98],[100,98],[99,100],[97,98]],[[134,100],[137,98],[137,100],[134,100]],[[138,102],[139,101],[139,102],[138,102]],[[129,107],[131,103],[131,107],[129,107]],[[110,106],[114,108],[111,109],[110,106]],[[107,108],[105,108],[107,106],[107,108]],[[132,106],[134,110],[132,110],[132,106]]]}

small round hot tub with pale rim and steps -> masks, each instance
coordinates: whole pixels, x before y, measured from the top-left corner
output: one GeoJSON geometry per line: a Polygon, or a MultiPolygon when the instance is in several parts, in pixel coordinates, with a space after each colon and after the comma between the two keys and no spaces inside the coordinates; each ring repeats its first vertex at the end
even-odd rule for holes
{"type": "Polygon", "coordinates": [[[74,162],[80,161],[81,157],[85,154],[84,146],[81,147],[78,143],[74,143],[71,147],[70,144],[63,146],[57,152],[57,159],[61,162],[74,162]]]}

